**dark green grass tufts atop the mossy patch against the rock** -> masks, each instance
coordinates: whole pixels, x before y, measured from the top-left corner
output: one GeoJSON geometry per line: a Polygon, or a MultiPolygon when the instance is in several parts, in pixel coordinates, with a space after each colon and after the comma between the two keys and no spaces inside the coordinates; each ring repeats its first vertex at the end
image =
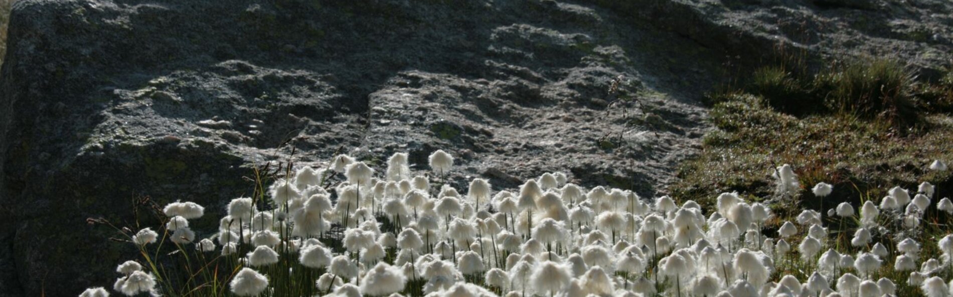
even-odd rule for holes
{"type": "MultiPolygon", "coordinates": [[[[923,124],[917,112],[918,84],[895,60],[864,59],[815,73],[769,66],[755,70],[740,91],[763,98],[772,109],[795,115],[850,114],[898,129],[923,124]]],[[[932,89],[942,92],[942,89],[932,89]]],[[[713,96],[717,104],[730,98],[713,96]]]]}

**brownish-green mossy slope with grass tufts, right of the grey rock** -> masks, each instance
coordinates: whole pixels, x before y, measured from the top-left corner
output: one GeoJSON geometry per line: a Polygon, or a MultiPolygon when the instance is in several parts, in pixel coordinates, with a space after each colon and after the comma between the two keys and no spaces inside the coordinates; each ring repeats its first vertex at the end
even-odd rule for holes
{"type": "MultiPolygon", "coordinates": [[[[953,74],[936,84],[915,82],[886,60],[798,72],[759,69],[743,88],[708,96],[717,130],[679,169],[671,188],[676,197],[704,202],[739,191],[767,198],[774,193],[771,174],[782,164],[795,168],[802,194],[820,182],[839,188],[824,208],[867,195],[879,199],[893,186],[950,184],[948,171],[927,167],[953,160],[953,74]]],[[[948,196],[948,189],[939,195],[948,196]]]]}

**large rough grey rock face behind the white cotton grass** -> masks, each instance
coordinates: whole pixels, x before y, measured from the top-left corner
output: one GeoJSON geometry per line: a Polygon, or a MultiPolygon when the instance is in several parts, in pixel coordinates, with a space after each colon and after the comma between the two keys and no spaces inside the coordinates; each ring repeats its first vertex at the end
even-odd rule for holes
{"type": "Polygon", "coordinates": [[[423,171],[443,148],[458,180],[560,170],[659,195],[707,129],[698,102],[723,65],[780,42],[810,59],[896,51],[930,73],[949,58],[950,6],[21,0],[0,72],[0,296],[108,287],[131,250],[86,218],[152,223],[136,196],[217,217],[251,194],[254,166],[337,149],[406,151],[423,171]],[[610,105],[619,76],[641,105],[610,105]]]}

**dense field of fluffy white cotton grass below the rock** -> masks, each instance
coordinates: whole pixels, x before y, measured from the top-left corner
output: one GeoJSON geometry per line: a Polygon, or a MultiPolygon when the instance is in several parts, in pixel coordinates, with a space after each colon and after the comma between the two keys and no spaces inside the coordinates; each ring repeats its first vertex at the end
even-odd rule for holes
{"type": "MultiPolygon", "coordinates": [[[[153,206],[162,225],[113,226],[139,250],[115,283],[79,296],[953,295],[953,203],[929,183],[780,222],[734,192],[707,209],[561,172],[457,189],[450,154],[433,152],[426,172],[407,159],[371,168],[338,155],[259,176],[253,197],[225,209],[153,206]],[[217,228],[192,224],[218,215],[217,228]]],[[[775,168],[779,203],[832,192],[800,185],[796,166],[775,168]]]]}

